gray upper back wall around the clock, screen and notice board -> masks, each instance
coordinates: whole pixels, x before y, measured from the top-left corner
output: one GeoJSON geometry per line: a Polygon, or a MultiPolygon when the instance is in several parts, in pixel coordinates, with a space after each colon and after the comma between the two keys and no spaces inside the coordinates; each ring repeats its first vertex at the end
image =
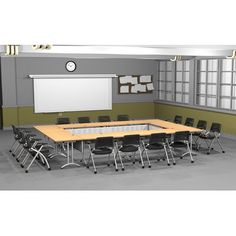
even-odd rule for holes
{"type": "MultiPolygon", "coordinates": [[[[77,62],[75,74],[117,74],[157,76],[157,63],[142,59],[78,59],[55,57],[2,57],[3,107],[33,106],[33,82],[29,74],[71,74],[68,60],[77,62]]],[[[113,103],[153,102],[153,94],[119,95],[118,81],[113,79],[113,103]]],[[[52,88],[53,94],[53,88],[52,88]]]]}

